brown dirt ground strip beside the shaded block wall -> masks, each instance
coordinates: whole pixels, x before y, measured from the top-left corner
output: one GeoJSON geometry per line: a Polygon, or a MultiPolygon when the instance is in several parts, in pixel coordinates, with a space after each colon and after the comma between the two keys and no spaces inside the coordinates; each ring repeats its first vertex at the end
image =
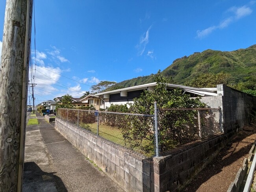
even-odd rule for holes
{"type": "Polygon", "coordinates": [[[256,122],[245,126],[219,155],[185,187],[184,192],[226,192],[256,140],[256,122]]]}

